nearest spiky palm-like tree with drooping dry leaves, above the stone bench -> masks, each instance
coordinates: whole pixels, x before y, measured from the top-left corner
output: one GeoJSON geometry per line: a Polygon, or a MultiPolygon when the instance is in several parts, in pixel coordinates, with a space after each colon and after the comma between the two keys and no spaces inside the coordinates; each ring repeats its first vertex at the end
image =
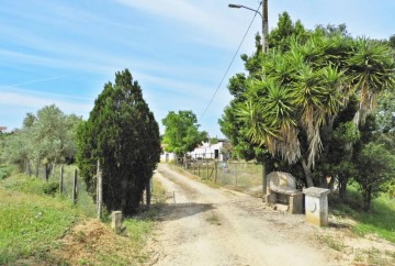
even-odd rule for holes
{"type": "Polygon", "coordinates": [[[248,82],[248,101],[238,112],[251,142],[266,145],[290,164],[302,163],[307,186],[314,186],[312,168],[323,149],[320,130],[346,102],[345,71],[323,59],[329,45],[317,37],[298,45],[295,38],[289,52],[271,52],[261,79],[248,82]]]}

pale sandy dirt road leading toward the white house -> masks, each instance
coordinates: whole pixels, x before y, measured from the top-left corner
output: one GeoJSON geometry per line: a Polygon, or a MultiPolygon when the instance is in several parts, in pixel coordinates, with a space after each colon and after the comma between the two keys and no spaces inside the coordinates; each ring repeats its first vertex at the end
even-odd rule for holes
{"type": "Polygon", "coordinates": [[[258,198],[207,187],[163,164],[154,178],[174,195],[150,243],[155,265],[339,264],[304,215],[275,212],[258,198]]]}

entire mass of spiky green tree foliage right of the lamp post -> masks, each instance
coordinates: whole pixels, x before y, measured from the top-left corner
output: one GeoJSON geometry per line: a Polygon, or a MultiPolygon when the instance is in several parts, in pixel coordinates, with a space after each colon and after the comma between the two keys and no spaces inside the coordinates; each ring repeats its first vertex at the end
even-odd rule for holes
{"type": "Polygon", "coordinates": [[[393,53],[384,42],[350,37],[345,25],[306,31],[286,13],[269,40],[269,53],[241,56],[248,76],[229,80],[235,98],[219,120],[222,131],[241,157],[270,154],[272,165],[286,168],[287,162],[307,186],[320,186],[323,176],[335,174],[335,166],[320,168],[329,154],[340,148],[340,158],[352,156],[359,126],[380,93],[393,90],[393,53]],[[334,141],[343,133],[340,147],[334,141]]]}

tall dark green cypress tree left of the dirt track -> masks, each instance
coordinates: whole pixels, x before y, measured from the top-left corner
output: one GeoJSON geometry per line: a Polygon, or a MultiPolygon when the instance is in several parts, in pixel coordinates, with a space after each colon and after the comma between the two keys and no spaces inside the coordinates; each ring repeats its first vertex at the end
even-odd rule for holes
{"type": "Polygon", "coordinates": [[[94,197],[97,160],[103,176],[103,202],[125,214],[136,211],[160,158],[159,128],[142,89],[125,69],[115,74],[78,132],[77,162],[94,197]]]}

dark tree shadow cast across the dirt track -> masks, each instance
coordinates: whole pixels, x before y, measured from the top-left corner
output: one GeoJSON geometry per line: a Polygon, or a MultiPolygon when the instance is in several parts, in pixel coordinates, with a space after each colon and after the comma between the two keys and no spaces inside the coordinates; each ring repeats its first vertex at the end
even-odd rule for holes
{"type": "Polygon", "coordinates": [[[165,203],[158,215],[158,221],[179,220],[213,210],[214,208],[211,203],[165,203]]]}

